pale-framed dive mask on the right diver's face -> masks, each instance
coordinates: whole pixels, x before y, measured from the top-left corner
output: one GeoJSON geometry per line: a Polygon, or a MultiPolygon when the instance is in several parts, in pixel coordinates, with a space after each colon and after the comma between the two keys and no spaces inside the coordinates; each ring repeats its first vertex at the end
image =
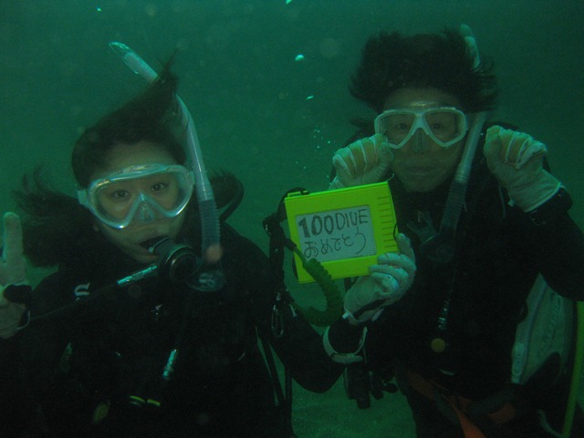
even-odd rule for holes
{"type": "Polygon", "coordinates": [[[468,130],[464,112],[451,107],[387,110],[375,119],[375,132],[383,134],[393,149],[403,147],[419,129],[443,148],[463,140],[468,130]]]}

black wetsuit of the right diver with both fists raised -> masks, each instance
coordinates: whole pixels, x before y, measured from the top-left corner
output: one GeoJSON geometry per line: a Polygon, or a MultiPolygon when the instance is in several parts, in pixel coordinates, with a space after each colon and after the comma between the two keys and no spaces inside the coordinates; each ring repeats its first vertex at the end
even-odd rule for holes
{"type": "MultiPolygon", "coordinates": [[[[369,324],[365,344],[370,370],[400,374],[421,437],[462,435],[433,401],[412,391],[406,370],[449,393],[485,400],[507,388],[516,326],[525,317],[526,297],[537,273],[559,294],[584,299],[584,238],[566,208],[557,212],[551,208],[542,221],[547,223],[535,224],[519,208],[507,204],[506,193],[488,172],[482,154],[474,162],[454,258],[440,263],[422,255],[427,218],[439,227],[449,184],[433,193],[405,193],[401,183],[391,179],[398,227],[412,239],[417,271],[401,301],[369,324]],[[446,317],[444,330],[439,328],[441,316],[446,317]],[[446,349],[434,352],[433,339],[443,339],[446,349]]],[[[353,351],[359,337],[360,329],[346,321],[330,329],[331,343],[339,351],[353,351]]],[[[543,394],[537,397],[545,399],[543,394]]],[[[529,402],[533,402],[529,412],[558,406],[557,397],[529,402]]],[[[516,417],[516,422],[529,421],[516,417]]],[[[488,436],[536,436],[506,435],[496,427],[494,431],[488,436]]]]}

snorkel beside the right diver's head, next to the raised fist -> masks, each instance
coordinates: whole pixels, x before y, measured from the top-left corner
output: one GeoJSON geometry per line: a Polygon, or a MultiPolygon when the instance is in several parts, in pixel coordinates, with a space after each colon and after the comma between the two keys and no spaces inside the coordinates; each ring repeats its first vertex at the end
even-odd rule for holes
{"type": "MultiPolygon", "coordinates": [[[[460,26],[460,32],[464,36],[466,46],[474,56],[473,68],[478,68],[480,65],[480,57],[473,32],[471,28],[466,25],[460,26]]],[[[456,172],[454,173],[454,179],[448,192],[440,230],[437,234],[423,242],[420,247],[422,254],[426,255],[434,262],[448,263],[454,256],[454,235],[456,233],[456,226],[463,210],[466,187],[470,178],[474,152],[476,151],[476,146],[481,136],[486,117],[487,111],[474,114],[471,128],[466,137],[466,142],[464,143],[464,151],[456,172]]]]}

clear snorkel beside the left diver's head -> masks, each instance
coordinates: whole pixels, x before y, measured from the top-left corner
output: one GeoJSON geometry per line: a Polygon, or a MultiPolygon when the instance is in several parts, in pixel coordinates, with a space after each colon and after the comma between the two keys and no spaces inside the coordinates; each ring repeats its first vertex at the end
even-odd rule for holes
{"type": "MultiPolygon", "coordinates": [[[[158,78],[154,71],[136,52],[130,47],[119,42],[111,42],[110,48],[121,57],[124,63],[136,74],[139,74],[148,83],[158,78]]],[[[199,203],[199,214],[202,227],[202,254],[208,254],[208,250],[218,249],[220,243],[219,218],[214,199],[213,188],[207,176],[203,162],[201,145],[194,128],[193,117],[186,105],[178,95],[176,101],[179,106],[181,125],[186,135],[186,152],[188,161],[194,174],[194,189],[199,203]]],[[[223,287],[224,277],[221,270],[212,268],[206,271],[204,278],[198,278],[199,284],[191,285],[197,289],[213,291],[223,287]]]]}

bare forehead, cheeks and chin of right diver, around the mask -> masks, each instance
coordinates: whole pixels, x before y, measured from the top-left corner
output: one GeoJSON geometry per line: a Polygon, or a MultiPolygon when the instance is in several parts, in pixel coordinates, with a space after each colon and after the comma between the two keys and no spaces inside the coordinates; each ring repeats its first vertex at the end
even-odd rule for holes
{"type": "MultiPolygon", "coordinates": [[[[383,110],[461,108],[458,99],[438,89],[398,89],[385,99],[383,110]]],[[[454,175],[464,139],[443,148],[419,129],[410,141],[393,151],[391,170],[407,192],[432,192],[454,175]]]]}

